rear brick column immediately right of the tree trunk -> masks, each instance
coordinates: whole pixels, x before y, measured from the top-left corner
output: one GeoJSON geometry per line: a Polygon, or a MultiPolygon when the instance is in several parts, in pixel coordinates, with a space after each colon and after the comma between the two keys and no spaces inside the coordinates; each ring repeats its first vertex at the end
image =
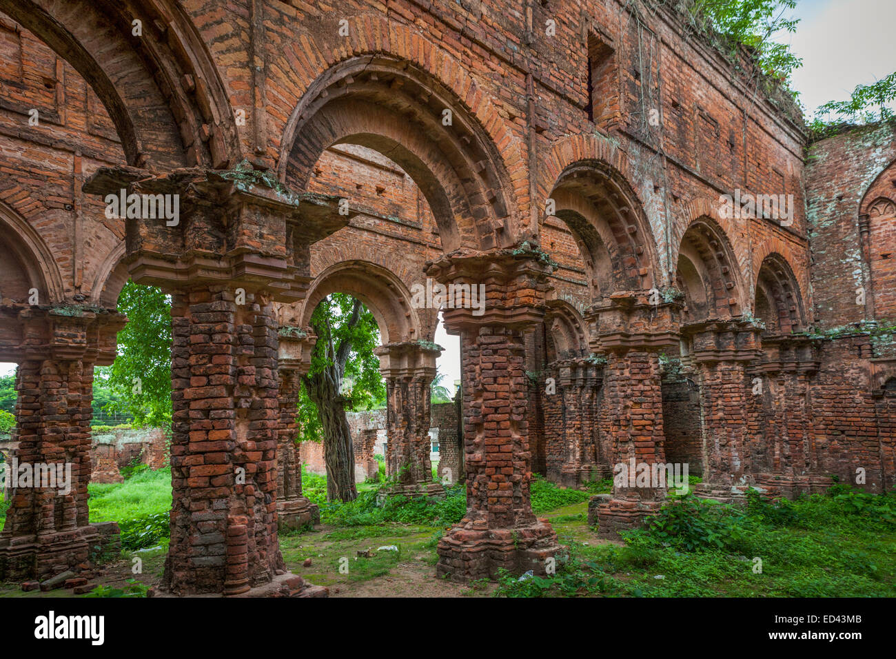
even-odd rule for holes
{"type": "Polygon", "coordinates": [[[442,349],[435,343],[389,343],[375,349],[386,381],[386,474],[396,484],[383,495],[444,495],[433,480],[429,459],[432,443],[429,386],[435,378],[435,358],[442,349]]]}

